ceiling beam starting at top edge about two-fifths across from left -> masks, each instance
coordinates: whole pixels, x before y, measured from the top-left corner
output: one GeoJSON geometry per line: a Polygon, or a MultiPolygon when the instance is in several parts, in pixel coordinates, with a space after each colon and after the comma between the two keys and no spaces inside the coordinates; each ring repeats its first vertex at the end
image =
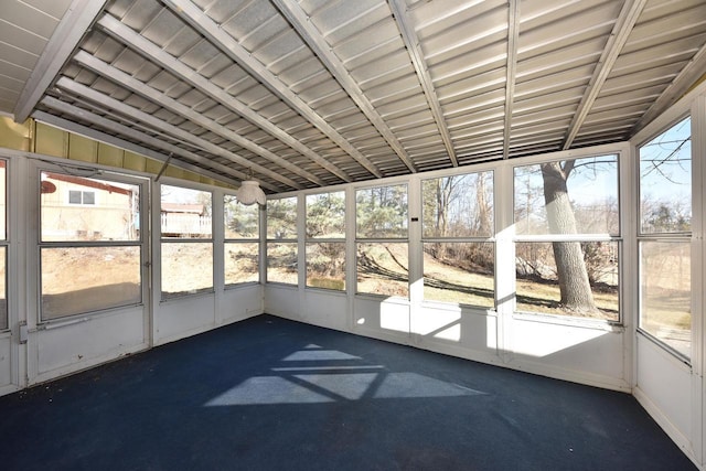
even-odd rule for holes
{"type": "Polygon", "coordinates": [[[387,141],[387,144],[395,151],[397,157],[413,172],[417,172],[407,151],[402,146],[392,129],[387,126],[383,117],[377,113],[373,104],[367,99],[361,87],[349,74],[341,60],[333,53],[329,43],[321,35],[321,32],[311,23],[307,13],[300,4],[293,0],[271,0],[280,13],[289,21],[303,39],[307,45],[317,54],[321,63],[329,69],[331,75],[339,82],[343,89],[353,99],[355,105],[363,111],[367,119],[375,126],[375,129],[387,141]]]}

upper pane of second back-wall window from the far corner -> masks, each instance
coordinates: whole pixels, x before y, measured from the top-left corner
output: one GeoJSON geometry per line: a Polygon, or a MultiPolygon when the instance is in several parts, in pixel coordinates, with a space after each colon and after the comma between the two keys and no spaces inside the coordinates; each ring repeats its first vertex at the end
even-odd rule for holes
{"type": "Polygon", "coordinates": [[[345,193],[307,195],[307,238],[345,238],[345,193]]]}

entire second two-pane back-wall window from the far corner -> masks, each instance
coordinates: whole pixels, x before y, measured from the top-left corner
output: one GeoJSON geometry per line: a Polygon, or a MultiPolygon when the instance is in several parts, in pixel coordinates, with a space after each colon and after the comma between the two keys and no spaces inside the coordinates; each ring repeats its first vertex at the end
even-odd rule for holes
{"type": "Polygon", "coordinates": [[[307,195],[307,287],[345,290],[345,193],[307,195]]]}

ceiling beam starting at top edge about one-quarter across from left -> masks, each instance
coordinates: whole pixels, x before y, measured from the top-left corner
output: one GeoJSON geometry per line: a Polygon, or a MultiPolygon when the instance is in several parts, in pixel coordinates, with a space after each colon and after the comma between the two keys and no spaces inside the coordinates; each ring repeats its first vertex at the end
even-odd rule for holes
{"type": "MultiPolygon", "coordinates": [[[[201,35],[206,38],[211,44],[221,50],[224,54],[236,62],[248,74],[253,75],[259,83],[277,95],[289,107],[299,113],[304,119],[317,127],[336,146],[349,156],[355,159],[368,172],[377,178],[383,178],[383,173],[377,167],[355,149],[343,136],[341,136],[331,125],[327,122],[317,111],[314,111],[304,100],[284,84],[263,63],[256,60],[245,47],[233,36],[226,33],[215,21],[204,13],[190,0],[162,0],[167,7],[189,23],[201,35]]],[[[116,20],[117,21],[117,20],[116,20]]],[[[127,26],[125,26],[127,28],[127,26]]],[[[122,39],[122,38],[121,38],[122,39]]]]}

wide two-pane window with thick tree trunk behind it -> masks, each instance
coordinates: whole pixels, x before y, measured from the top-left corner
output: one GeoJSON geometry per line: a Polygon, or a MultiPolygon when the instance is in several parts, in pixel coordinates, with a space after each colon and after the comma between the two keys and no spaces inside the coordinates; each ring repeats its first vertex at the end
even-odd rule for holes
{"type": "Polygon", "coordinates": [[[618,156],[514,169],[516,310],[619,321],[618,156]]]}

